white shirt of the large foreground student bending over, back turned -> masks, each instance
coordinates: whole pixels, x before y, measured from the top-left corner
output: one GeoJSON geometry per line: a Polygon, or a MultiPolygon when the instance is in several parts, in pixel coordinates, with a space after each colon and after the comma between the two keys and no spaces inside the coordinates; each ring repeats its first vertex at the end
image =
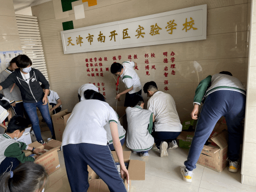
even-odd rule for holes
{"type": "Polygon", "coordinates": [[[88,99],[78,102],[67,120],[62,136],[62,144],[91,143],[106,145],[106,123],[118,119],[112,107],[106,102],[88,99]]]}

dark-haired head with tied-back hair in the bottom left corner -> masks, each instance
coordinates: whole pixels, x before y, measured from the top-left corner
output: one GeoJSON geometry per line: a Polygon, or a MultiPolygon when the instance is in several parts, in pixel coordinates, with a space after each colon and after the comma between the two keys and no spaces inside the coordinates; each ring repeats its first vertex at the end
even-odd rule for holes
{"type": "Polygon", "coordinates": [[[24,162],[15,170],[0,175],[0,191],[43,192],[47,176],[42,165],[24,162]]]}

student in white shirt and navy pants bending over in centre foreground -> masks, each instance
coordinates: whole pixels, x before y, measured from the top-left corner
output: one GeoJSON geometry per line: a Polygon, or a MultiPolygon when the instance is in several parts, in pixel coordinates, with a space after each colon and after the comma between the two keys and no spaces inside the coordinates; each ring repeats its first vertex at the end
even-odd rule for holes
{"type": "Polygon", "coordinates": [[[126,192],[122,178],[129,179],[118,138],[117,117],[102,94],[88,90],[67,120],[62,136],[63,155],[72,192],[87,191],[89,165],[112,192],[126,192]],[[109,123],[113,145],[120,162],[120,173],[107,145],[103,126],[109,123]]]}

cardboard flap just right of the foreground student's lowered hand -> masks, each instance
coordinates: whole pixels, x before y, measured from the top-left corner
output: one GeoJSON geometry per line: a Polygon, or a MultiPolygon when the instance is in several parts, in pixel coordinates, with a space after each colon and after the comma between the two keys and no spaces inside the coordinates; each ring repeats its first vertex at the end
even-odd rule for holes
{"type": "Polygon", "coordinates": [[[129,180],[145,180],[145,161],[129,160],[129,180]]]}

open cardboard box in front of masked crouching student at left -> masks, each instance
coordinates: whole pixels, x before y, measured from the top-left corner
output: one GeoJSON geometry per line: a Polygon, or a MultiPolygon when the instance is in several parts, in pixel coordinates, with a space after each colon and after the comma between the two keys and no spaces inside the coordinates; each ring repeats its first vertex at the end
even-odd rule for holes
{"type": "MultiPolygon", "coordinates": [[[[31,144],[28,145],[35,148],[48,150],[47,152],[39,155],[34,161],[34,163],[41,164],[42,166],[44,166],[48,174],[51,174],[60,167],[57,153],[61,145],[60,141],[51,139],[45,145],[42,145],[37,141],[32,142],[31,144]]],[[[32,154],[32,151],[30,150],[23,150],[23,152],[25,153],[25,156],[29,156],[30,154],[32,154]]]]}

